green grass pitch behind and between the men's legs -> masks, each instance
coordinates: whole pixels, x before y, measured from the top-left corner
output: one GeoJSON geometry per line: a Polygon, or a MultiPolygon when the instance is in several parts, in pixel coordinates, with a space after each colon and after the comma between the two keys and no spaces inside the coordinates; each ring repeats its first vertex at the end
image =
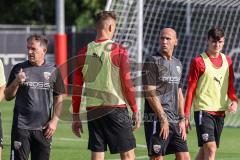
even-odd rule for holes
{"type": "MultiPolygon", "coordinates": [[[[13,102],[2,102],[0,104],[4,130],[4,150],[3,159],[9,159],[10,153],[10,131],[12,125],[13,102]]],[[[84,125],[84,134],[82,138],[77,138],[72,134],[69,114],[69,101],[64,104],[63,116],[56,134],[53,138],[51,160],[88,160],[90,152],[87,150],[87,128],[84,125]]],[[[221,138],[220,149],[217,152],[217,160],[238,160],[240,157],[240,129],[224,128],[221,138]]],[[[143,127],[135,132],[138,147],[136,149],[137,159],[147,160],[147,150],[143,127]]],[[[197,154],[197,138],[195,128],[188,135],[188,146],[192,159],[197,154]]],[[[106,159],[118,159],[118,155],[106,153],[106,159]]],[[[174,160],[174,156],[167,156],[166,159],[174,160]]]]}

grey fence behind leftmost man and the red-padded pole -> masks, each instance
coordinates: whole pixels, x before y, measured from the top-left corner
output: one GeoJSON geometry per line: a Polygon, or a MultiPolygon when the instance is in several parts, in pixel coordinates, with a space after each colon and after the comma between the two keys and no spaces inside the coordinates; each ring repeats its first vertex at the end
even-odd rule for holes
{"type": "MultiPolygon", "coordinates": [[[[13,65],[27,59],[26,39],[34,33],[44,34],[48,37],[49,46],[46,60],[54,63],[56,26],[0,25],[0,58],[4,64],[6,78],[8,78],[13,65]]],[[[77,32],[75,26],[67,26],[66,33],[68,37],[68,58],[75,56],[81,47],[95,38],[94,30],[77,32]]],[[[72,70],[73,66],[68,65],[69,70],[72,70]]],[[[69,82],[72,82],[71,74],[69,75],[69,82]]]]}

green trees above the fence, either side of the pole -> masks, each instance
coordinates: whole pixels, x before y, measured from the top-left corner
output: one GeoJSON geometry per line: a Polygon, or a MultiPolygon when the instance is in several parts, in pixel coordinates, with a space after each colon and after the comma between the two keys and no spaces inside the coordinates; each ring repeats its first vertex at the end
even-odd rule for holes
{"type": "MultiPolygon", "coordinates": [[[[65,23],[78,29],[92,28],[95,14],[106,0],[65,0],[65,23]]],[[[1,0],[1,24],[55,24],[55,0],[1,0]]]]}

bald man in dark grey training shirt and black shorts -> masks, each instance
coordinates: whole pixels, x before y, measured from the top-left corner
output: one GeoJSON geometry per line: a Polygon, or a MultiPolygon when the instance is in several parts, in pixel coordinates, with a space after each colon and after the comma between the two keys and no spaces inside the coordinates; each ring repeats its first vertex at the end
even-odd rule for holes
{"type": "Polygon", "coordinates": [[[148,57],[143,67],[145,90],[144,128],[151,160],[175,153],[189,160],[181,89],[182,64],[173,57],[177,35],[172,28],[160,33],[160,52],[148,57]]]}

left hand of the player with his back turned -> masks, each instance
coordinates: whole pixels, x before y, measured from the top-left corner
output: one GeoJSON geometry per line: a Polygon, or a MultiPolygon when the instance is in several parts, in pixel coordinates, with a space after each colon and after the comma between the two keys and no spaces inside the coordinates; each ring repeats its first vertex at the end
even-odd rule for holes
{"type": "Polygon", "coordinates": [[[81,134],[83,134],[83,128],[82,128],[82,122],[79,117],[79,114],[73,114],[72,115],[73,121],[72,121],[72,132],[77,136],[81,137],[81,134]]]}

